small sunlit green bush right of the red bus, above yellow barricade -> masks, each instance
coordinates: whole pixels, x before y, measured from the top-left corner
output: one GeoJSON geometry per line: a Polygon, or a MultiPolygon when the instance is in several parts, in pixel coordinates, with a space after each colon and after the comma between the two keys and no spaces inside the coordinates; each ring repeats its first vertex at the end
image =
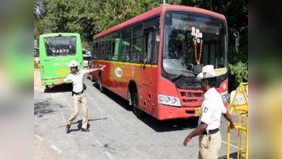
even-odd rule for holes
{"type": "Polygon", "coordinates": [[[235,88],[239,86],[241,82],[248,81],[248,66],[246,63],[239,61],[237,64],[229,64],[230,75],[235,77],[235,88]]]}

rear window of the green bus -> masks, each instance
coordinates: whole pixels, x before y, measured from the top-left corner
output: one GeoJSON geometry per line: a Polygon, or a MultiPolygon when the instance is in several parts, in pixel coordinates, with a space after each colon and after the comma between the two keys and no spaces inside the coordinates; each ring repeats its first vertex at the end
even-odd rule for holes
{"type": "Polygon", "coordinates": [[[45,37],[47,57],[75,55],[77,52],[77,37],[45,37]]]}

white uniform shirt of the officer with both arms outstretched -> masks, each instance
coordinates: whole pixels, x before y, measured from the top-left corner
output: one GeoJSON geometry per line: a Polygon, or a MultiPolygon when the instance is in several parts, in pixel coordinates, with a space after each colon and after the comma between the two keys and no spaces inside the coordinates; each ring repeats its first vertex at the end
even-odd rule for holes
{"type": "Polygon", "coordinates": [[[82,79],[86,73],[89,73],[89,69],[81,69],[77,74],[69,73],[69,75],[64,78],[64,83],[72,81],[72,90],[74,93],[80,93],[83,90],[82,79]]]}

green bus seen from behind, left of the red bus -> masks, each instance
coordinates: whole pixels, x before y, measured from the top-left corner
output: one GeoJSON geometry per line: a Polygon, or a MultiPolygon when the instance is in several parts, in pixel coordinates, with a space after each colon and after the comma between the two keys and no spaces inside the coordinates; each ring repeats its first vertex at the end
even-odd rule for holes
{"type": "Polygon", "coordinates": [[[77,60],[83,68],[81,38],[78,33],[50,33],[39,37],[40,74],[43,86],[65,78],[69,62],[77,60]]]}

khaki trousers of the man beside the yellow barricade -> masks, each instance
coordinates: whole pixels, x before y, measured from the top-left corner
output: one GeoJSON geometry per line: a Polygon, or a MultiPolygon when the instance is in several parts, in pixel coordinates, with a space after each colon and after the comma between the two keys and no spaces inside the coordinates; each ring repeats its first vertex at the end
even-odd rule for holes
{"type": "Polygon", "coordinates": [[[199,156],[198,159],[218,159],[218,153],[221,147],[220,131],[211,134],[209,139],[207,135],[199,136],[199,156]]]}

